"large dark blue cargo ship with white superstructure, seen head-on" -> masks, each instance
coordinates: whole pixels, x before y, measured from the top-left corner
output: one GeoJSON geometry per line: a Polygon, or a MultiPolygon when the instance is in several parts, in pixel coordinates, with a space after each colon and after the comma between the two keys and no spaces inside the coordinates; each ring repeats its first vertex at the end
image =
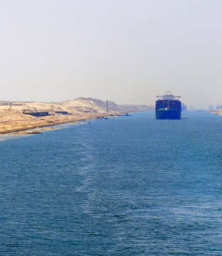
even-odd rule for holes
{"type": "Polygon", "coordinates": [[[181,96],[174,96],[166,91],[163,96],[156,96],[155,116],[157,119],[181,119],[181,96]]]}

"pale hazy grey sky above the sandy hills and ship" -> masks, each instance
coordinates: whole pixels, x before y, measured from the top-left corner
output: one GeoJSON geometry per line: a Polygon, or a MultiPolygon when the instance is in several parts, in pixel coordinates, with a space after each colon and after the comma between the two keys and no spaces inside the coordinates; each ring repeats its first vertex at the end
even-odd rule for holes
{"type": "Polygon", "coordinates": [[[0,100],[222,104],[222,1],[0,0],[0,100]]]}

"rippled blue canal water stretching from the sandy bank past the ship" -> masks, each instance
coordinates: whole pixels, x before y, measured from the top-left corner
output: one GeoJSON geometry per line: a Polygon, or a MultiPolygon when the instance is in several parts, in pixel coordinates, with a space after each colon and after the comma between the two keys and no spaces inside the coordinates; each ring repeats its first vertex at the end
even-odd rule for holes
{"type": "Polygon", "coordinates": [[[0,255],[222,255],[222,117],[154,112],[0,142],[0,255]]]}

